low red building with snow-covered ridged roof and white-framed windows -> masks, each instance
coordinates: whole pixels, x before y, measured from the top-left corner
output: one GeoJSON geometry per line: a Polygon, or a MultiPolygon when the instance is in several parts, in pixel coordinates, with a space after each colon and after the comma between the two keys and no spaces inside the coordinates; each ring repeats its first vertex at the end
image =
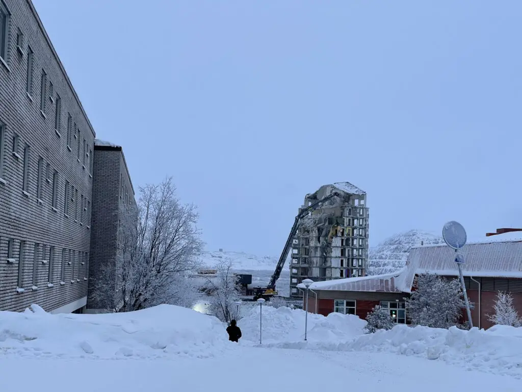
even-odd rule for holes
{"type": "MultiPolygon", "coordinates": [[[[465,258],[462,272],[468,296],[474,303],[473,326],[492,326],[487,315],[493,313],[499,291],[513,295],[514,306],[522,315],[522,240],[472,243],[459,252],[465,258]]],[[[458,278],[454,260],[455,251],[446,245],[412,248],[406,267],[396,273],[314,282],[308,309],[325,316],[340,312],[365,319],[375,305],[381,305],[389,308],[398,323],[406,324],[405,298],[411,293],[415,277],[435,273],[458,278]]],[[[301,283],[298,288],[304,291],[305,286],[301,283]]]]}

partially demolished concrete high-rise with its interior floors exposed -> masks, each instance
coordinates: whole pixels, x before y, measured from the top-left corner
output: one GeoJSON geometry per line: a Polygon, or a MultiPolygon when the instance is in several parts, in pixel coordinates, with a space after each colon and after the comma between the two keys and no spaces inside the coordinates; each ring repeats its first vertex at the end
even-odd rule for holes
{"type": "Polygon", "coordinates": [[[301,211],[331,193],[331,198],[302,218],[292,240],[290,296],[301,296],[297,285],[365,276],[368,259],[369,208],[366,192],[349,182],[324,185],[307,194],[301,211]]]}

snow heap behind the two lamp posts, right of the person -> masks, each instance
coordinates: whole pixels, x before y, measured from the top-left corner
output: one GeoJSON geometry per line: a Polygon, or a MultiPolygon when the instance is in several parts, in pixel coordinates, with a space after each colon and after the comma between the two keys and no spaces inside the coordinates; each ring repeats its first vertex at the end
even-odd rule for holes
{"type": "MultiPolygon", "coordinates": [[[[243,339],[259,342],[259,306],[238,321],[243,339]]],[[[263,306],[263,345],[298,348],[304,339],[305,312],[288,307],[263,306]],[[298,343],[296,345],[296,343],[298,343]]],[[[309,342],[348,342],[363,333],[366,321],[357,316],[331,313],[327,317],[309,313],[309,342]]]]}

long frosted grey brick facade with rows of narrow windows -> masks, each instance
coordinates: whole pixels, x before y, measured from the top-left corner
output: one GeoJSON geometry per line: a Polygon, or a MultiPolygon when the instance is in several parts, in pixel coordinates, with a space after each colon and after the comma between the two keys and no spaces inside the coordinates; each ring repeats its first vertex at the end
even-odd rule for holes
{"type": "MultiPolygon", "coordinates": [[[[94,161],[104,159],[94,139],[31,0],[0,0],[0,310],[85,309],[94,161]]],[[[121,147],[118,154],[124,162],[121,147]]],[[[109,170],[115,182],[97,201],[117,194],[120,181],[132,190],[121,170],[109,170]]],[[[100,219],[106,215],[96,227],[100,219]]]]}

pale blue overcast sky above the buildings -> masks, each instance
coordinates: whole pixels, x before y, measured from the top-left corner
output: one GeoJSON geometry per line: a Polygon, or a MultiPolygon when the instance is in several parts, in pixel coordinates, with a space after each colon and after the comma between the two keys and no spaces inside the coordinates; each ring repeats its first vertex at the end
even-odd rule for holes
{"type": "Polygon", "coordinates": [[[370,246],[522,227],[522,2],[33,0],[134,187],[207,249],[279,255],[304,195],[365,190],[370,246]]]}

